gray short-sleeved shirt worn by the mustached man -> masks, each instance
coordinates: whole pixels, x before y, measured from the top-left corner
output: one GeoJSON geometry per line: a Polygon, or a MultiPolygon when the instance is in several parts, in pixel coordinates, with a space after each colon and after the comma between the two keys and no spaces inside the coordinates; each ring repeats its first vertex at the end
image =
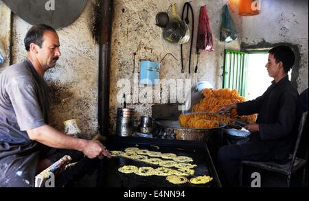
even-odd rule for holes
{"type": "Polygon", "coordinates": [[[28,143],[26,130],[48,123],[47,84],[25,60],[0,74],[0,143],[28,143]]]}

